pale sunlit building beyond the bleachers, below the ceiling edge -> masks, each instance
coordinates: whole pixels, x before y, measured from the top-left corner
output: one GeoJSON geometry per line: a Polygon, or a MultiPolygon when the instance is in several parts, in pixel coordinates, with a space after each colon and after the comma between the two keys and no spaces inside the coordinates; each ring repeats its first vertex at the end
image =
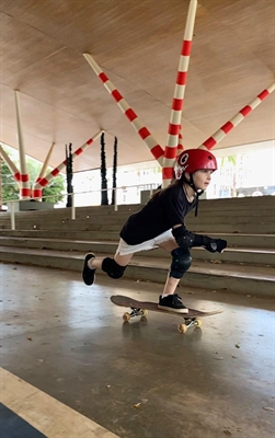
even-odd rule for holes
{"type": "MultiPolygon", "coordinates": [[[[18,151],[12,149],[15,157],[18,151]]],[[[229,198],[275,195],[275,141],[265,141],[215,151],[218,170],[205,197],[229,198]]],[[[118,150],[119,163],[119,150],[118,150]]],[[[107,169],[108,201],[112,199],[113,169],[107,169]]],[[[140,204],[142,191],[153,191],[161,185],[161,169],[156,161],[117,168],[117,204],[140,204]]],[[[15,182],[14,182],[15,184],[15,182]]],[[[75,205],[101,205],[100,169],[73,173],[75,205]]],[[[64,201],[58,207],[66,206],[64,201]]]]}

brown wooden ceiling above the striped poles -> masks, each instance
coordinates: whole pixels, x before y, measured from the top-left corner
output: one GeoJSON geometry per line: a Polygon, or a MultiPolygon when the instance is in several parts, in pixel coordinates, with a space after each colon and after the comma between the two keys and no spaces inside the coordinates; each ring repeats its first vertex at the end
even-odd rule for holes
{"type": "MultiPolygon", "coordinates": [[[[0,0],[0,141],[18,148],[13,90],[26,152],[50,164],[100,128],[118,164],[152,159],[82,53],[91,53],[164,148],[188,1],[0,0]]],[[[274,81],[274,0],[199,0],[182,117],[186,148],[200,145],[274,81]]],[[[275,93],[217,148],[275,137],[275,93]]],[[[100,165],[99,141],[75,170],[100,165]]]]}

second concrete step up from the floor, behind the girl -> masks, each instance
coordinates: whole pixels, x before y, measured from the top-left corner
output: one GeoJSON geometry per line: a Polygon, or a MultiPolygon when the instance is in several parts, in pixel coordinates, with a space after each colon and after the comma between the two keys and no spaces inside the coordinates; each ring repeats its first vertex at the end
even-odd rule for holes
{"type": "MultiPolygon", "coordinates": [[[[18,246],[41,250],[56,251],[78,251],[114,254],[117,241],[96,241],[96,240],[66,240],[66,239],[35,239],[35,238],[0,238],[2,246],[18,246]]],[[[275,266],[275,250],[251,249],[251,247],[227,247],[222,253],[209,253],[200,247],[194,247],[192,258],[197,261],[208,261],[211,263],[245,263],[255,265],[275,266]]],[[[171,258],[170,254],[161,249],[153,251],[142,251],[136,256],[171,258]]]]}

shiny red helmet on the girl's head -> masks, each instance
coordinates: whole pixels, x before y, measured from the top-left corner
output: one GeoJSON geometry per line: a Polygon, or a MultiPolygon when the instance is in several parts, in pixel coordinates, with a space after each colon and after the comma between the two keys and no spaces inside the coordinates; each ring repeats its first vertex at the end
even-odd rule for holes
{"type": "Polygon", "coordinates": [[[203,169],[213,171],[218,169],[215,155],[205,149],[187,149],[176,158],[175,178],[180,180],[183,172],[194,173],[203,169]]]}

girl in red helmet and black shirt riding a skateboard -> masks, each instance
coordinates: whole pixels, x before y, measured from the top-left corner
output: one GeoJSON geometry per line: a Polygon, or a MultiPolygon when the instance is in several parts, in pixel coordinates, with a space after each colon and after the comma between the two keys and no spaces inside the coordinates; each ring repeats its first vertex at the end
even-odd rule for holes
{"type": "Polygon", "coordinates": [[[187,313],[188,309],[175,293],[176,286],[191,266],[190,249],[203,246],[209,252],[221,253],[227,241],[195,234],[184,226],[184,218],[198,205],[198,196],[206,191],[211,174],[217,170],[213,153],[204,149],[182,152],[175,162],[175,180],[157,192],[147,205],[131,215],[121,230],[119,243],[114,257],[99,258],[88,253],[84,258],[82,278],[85,285],[94,283],[95,269],[101,268],[111,278],[117,279],[139,251],[162,247],[172,256],[167,283],[158,307],[187,313]]]}

